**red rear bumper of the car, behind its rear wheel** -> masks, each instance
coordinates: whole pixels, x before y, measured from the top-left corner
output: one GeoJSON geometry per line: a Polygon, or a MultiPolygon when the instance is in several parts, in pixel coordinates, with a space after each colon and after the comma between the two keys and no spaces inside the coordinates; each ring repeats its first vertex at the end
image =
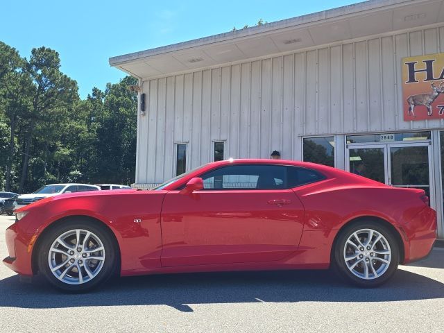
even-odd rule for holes
{"type": "Polygon", "coordinates": [[[409,264],[429,255],[436,241],[436,212],[430,207],[425,207],[407,225],[402,225],[404,236],[404,262],[409,264]]]}

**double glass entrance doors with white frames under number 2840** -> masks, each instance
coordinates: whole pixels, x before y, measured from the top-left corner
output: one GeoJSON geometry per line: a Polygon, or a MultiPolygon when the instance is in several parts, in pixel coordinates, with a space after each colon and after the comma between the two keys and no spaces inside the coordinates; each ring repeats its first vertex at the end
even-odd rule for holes
{"type": "Polygon", "coordinates": [[[429,143],[349,144],[348,171],[393,187],[423,189],[434,207],[429,143]]]}

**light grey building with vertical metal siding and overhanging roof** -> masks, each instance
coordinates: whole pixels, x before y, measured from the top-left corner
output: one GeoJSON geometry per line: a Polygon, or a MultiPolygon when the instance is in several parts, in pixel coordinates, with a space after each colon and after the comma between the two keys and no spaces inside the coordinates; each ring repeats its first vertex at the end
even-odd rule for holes
{"type": "Polygon", "coordinates": [[[373,153],[367,167],[389,185],[427,171],[419,185],[442,238],[444,119],[404,120],[402,59],[443,52],[443,0],[373,0],[110,58],[139,78],[146,103],[135,186],[211,162],[216,147],[224,158],[313,160],[317,144],[326,164],[353,172],[373,153]]]}

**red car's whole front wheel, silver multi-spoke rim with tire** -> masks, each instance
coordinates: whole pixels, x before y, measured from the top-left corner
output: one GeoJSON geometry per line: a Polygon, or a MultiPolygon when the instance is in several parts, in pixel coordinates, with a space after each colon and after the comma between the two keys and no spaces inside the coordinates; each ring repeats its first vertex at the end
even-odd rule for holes
{"type": "Polygon", "coordinates": [[[46,232],[38,248],[38,267],[53,286],[79,292],[105,282],[114,271],[114,242],[91,221],[60,223],[46,232]]]}

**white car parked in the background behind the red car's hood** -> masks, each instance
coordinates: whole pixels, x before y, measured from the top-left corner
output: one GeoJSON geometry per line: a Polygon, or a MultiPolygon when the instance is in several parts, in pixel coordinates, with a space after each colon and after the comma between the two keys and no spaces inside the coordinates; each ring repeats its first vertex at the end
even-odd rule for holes
{"type": "Polygon", "coordinates": [[[100,187],[87,184],[51,184],[40,187],[31,194],[22,194],[15,199],[14,210],[29,205],[37,200],[48,198],[49,196],[58,196],[64,193],[83,192],[83,191],[100,191],[100,187]]]}

